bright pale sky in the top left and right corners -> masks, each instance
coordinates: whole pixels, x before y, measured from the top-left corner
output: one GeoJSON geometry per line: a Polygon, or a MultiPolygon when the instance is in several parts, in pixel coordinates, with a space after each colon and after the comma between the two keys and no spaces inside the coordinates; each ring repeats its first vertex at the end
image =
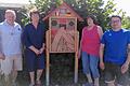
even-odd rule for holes
{"type": "MultiPolygon", "coordinates": [[[[0,3],[29,3],[29,0],[0,0],[0,3]]],[[[31,0],[32,2],[35,0],[31,0]]],[[[108,1],[108,0],[104,0],[108,1]]],[[[127,13],[128,16],[130,16],[130,0],[114,0],[114,3],[116,3],[117,10],[122,9],[123,12],[127,13]]]]}

